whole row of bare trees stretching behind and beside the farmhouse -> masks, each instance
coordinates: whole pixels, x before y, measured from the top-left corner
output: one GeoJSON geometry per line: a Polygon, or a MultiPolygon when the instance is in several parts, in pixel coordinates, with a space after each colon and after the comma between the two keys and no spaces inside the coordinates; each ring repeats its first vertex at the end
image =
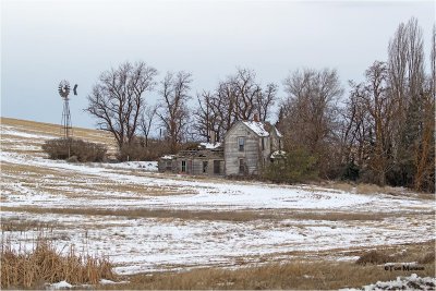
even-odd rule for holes
{"type": "Polygon", "coordinates": [[[120,151],[155,146],[149,136],[157,129],[168,153],[185,142],[209,142],[211,133],[222,141],[237,121],[257,114],[282,132],[287,151],[315,160],[322,179],[434,192],[436,29],[429,62],[416,19],[398,26],[387,51],[387,60],[374,61],[364,81],[349,81],[347,89],[336,70],[291,72],[282,82],[284,98],[278,84],[263,85],[245,68],[193,96],[191,73],[167,72],[158,82],[155,68],[125,62],[99,76],[85,110],[113,134],[120,151]],[[152,92],[156,105],[146,101],[152,92]]]}

